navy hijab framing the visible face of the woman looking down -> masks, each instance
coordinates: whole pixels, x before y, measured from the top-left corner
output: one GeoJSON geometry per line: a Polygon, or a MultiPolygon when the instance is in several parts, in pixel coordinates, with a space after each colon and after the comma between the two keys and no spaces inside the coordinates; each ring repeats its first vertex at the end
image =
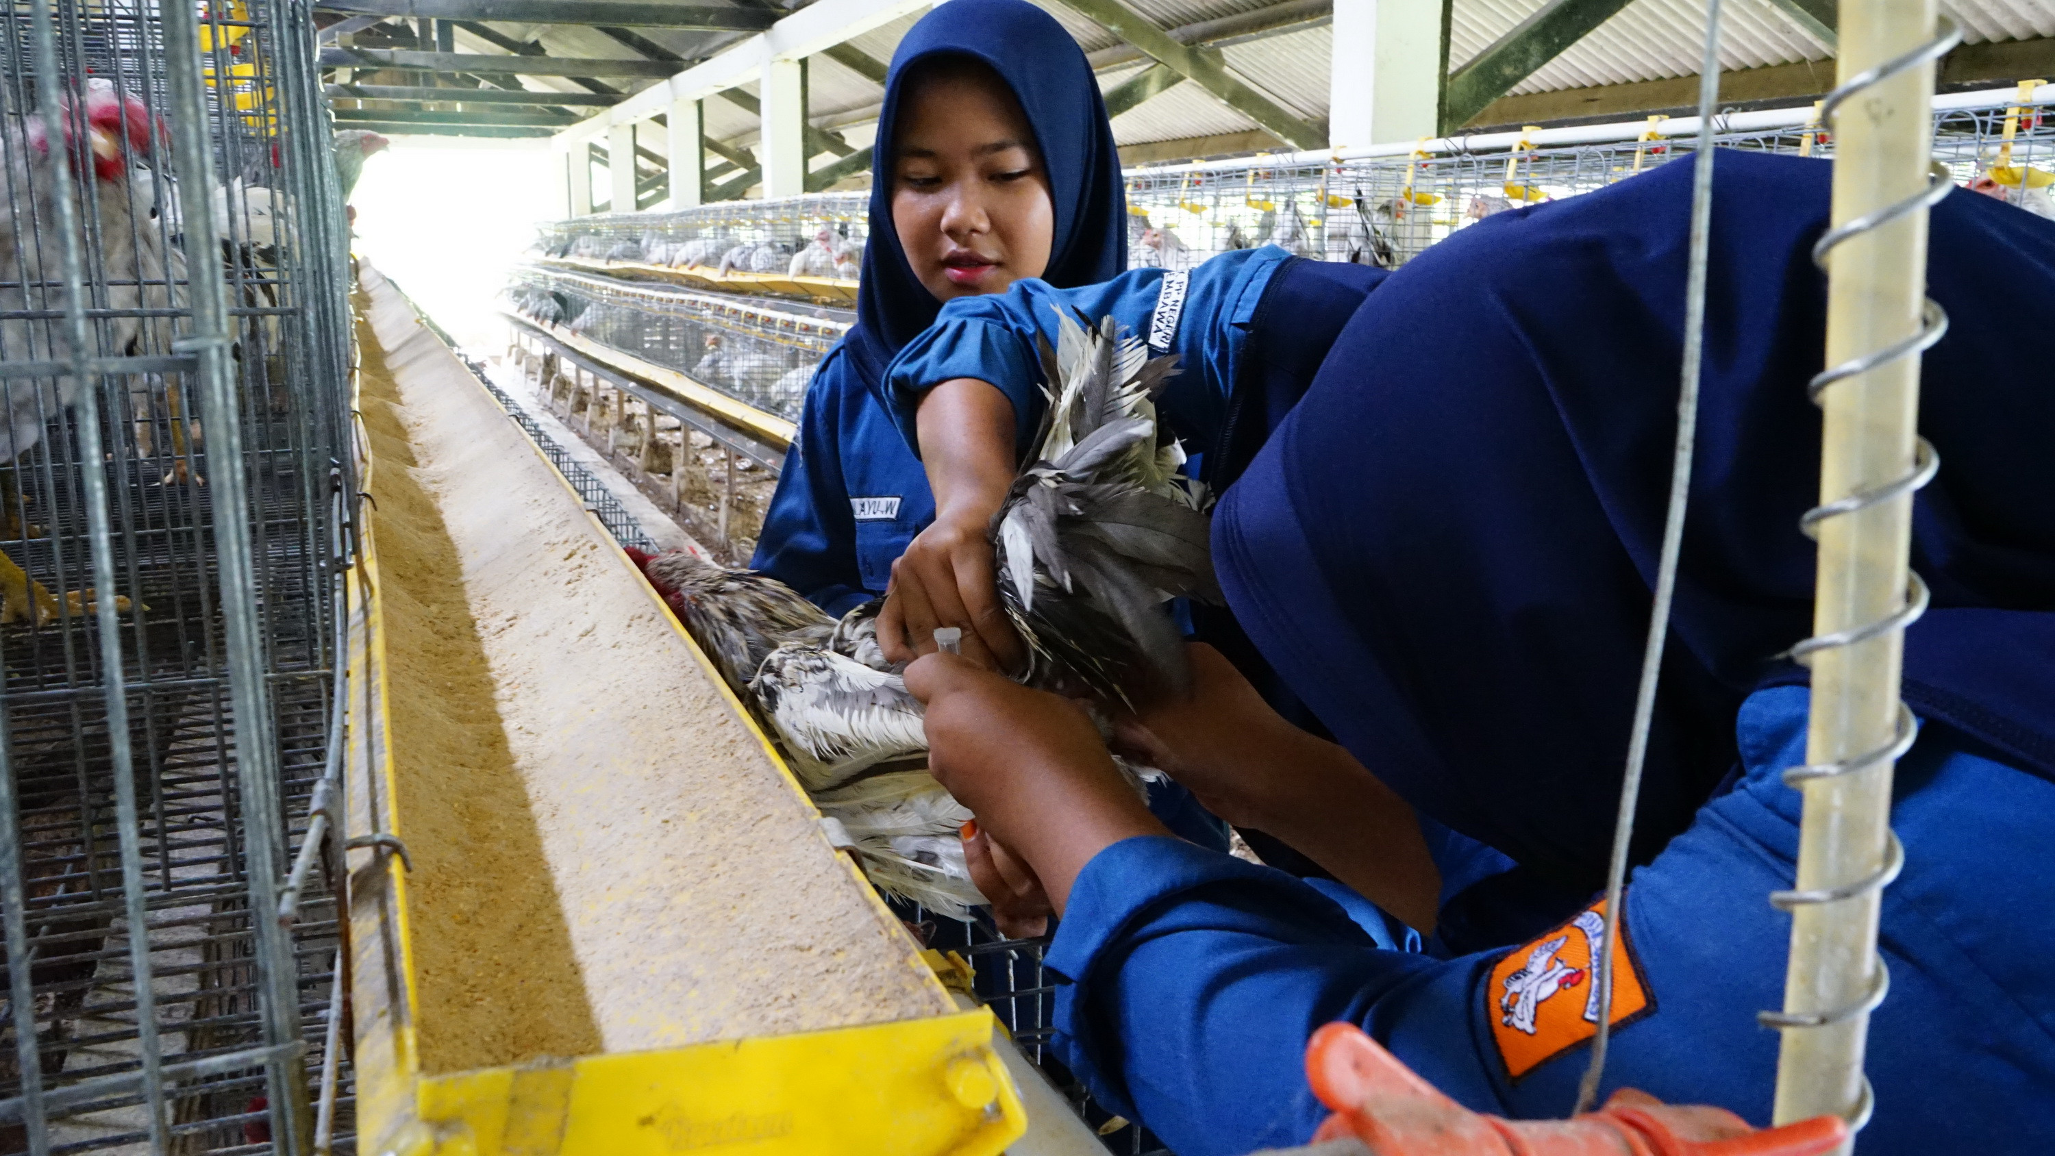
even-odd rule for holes
{"type": "Polygon", "coordinates": [[[1128,267],[1126,193],[1114,129],[1083,49],[1025,0],[949,0],[892,53],[871,156],[871,236],[863,248],[857,324],[843,351],[875,390],[902,345],[935,322],[941,302],[921,285],[892,226],[892,127],[908,70],[935,55],[991,66],[1028,115],[1056,209],[1042,279],[1058,287],[1110,281],[1128,267]]]}

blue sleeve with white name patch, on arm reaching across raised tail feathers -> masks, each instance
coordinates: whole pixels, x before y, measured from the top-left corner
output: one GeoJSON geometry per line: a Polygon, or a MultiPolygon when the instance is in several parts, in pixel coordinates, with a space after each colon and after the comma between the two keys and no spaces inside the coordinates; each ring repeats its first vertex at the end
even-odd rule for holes
{"type": "MultiPolygon", "coordinates": [[[[1184,304],[1167,351],[1180,372],[1159,400],[1180,437],[1210,446],[1227,411],[1241,347],[1270,275],[1291,255],[1276,246],[1223,253],[1173,273],[1186,277],[1184,304]]],[[[886,402],[906,446],[921,452],[914,411],[921,394],[956,378],[991,382],[1013,402],[1015,452],[1042,421],[1042,363],[1036,335],[1056,341],[1058,310],[1097,320],[1112,316],[1120,326],[1149,339],[1165,281],[1163,269],[1130,269],[1112,281],[1056,290],[1046,281],[1017,281],[1005,294],[958,298],[941,306],[921,337],[914,337],[886,372],[886,402]]],[[[1157,349],[1161,353],[1163,349],[1157,349]]]]}

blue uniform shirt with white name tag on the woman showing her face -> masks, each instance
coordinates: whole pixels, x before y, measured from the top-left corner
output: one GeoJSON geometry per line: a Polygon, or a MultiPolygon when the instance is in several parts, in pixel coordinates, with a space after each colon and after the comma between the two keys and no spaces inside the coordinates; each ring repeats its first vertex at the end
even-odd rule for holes
{"type": "Polygon", "coordinates": [[[840,616],[886,591],[892,563],[935,522],[927,472],[840,347],[799,413],[750,567],[840,616]]]}

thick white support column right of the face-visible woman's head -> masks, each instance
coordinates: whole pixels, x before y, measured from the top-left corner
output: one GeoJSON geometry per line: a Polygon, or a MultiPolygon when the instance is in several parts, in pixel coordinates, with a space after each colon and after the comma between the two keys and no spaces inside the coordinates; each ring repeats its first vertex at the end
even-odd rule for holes
{"type": "Polygon", "coordinates": [[[1362,148],[1434,136],[1441,4],[1334,0],[1328,144],[1362,148]]]}

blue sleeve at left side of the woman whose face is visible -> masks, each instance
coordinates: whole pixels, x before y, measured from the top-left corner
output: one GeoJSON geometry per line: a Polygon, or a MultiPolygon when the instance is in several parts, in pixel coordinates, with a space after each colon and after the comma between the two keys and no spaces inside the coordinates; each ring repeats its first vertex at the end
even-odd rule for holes
{"type": "Polygon", "coordinates": [[[836,616],[871,598],[857,575],[857,526],[843,485],[840,415],[849,374],[838,351],[814,374],[799,411],[799,435],[785,452],[750,561],[752,569],[836,616]]]}

